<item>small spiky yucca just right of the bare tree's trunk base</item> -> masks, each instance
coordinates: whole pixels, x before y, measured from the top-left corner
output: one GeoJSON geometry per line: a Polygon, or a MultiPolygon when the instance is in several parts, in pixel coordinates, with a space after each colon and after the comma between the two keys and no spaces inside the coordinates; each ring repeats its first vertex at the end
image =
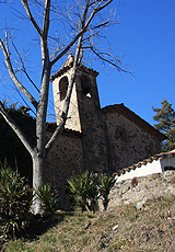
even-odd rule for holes
{"type": "Polygon", "coordinates": [[[43,210],[45,215],[52,215],[58,208],[59,194],[50,184],[43,184],[37,187],[36,194],[42,201],[43,210]]]}

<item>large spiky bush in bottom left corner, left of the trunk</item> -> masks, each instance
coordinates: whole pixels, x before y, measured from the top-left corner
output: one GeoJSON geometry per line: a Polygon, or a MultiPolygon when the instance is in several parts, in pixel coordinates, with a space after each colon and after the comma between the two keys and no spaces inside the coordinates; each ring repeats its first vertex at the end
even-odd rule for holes
{"type": "Polygon", "coordinates": [[[27,180],[10,168],[0,171],[0,226],[3,237],[25,236],[33,190],[27,180]]]}

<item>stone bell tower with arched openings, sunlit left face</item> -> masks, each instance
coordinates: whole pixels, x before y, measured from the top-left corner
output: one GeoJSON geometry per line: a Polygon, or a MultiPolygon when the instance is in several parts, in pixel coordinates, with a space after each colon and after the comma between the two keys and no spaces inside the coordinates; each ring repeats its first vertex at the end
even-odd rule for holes
{"type": "MultiPolygon", "coordinates": [[[[73,57],[69,56],[61,69],[51,77],[56,121],[59,124],[69,80],[72,73],[73,57]]],[[[96,85],[97,72],[80,65],[66,128],[82,133],[85,169],[94,172],[107,171],[105,122],[101,112],[96,85]]]]}

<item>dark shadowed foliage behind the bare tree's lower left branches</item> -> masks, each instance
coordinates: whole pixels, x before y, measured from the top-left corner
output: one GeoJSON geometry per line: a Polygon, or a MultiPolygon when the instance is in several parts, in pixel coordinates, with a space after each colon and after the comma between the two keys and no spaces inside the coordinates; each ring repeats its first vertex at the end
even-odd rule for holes
{"type": "MultiPolygon", "coordinates": [[[[23,129],[25,135],[35,141],[35,119],[26,113],[27,108],[20,106],[16,103],[11,103],[5,106],[10,116],[23,129]]],[[[22,145],[19,137],[15,135],[13,129],[5,123],[3,117],[0,115],[0,161],[1,163],[7,160],[8,164],[13,171],[19,170],[22,176],[26,176],[32,182],[32,159],[28,151],[22,145]]]]}

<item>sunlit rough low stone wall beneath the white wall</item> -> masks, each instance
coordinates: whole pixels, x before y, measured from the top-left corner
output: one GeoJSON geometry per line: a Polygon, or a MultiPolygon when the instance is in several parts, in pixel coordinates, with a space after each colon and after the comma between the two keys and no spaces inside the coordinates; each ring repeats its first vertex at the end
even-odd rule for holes
{"type": "Polygon", "coordinates": [[[115,210],[122,203],[133,203],[137,208],[141,208],[148,199],[170,195],[175,195],[175,171],[121,181],[115,183],[110,191],[108,211],[115,210]]]}

